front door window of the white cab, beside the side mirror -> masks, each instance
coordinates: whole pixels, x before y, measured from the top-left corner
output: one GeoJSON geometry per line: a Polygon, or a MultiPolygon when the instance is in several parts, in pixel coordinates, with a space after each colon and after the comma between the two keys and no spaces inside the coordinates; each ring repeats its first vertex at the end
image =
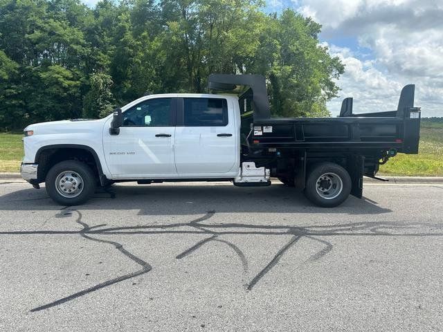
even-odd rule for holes
{"type": "Polygon", "coordinates": [[[172,125],[172,98],[145,100],[123,112],[124,127],[168,127],[172,125]]]}

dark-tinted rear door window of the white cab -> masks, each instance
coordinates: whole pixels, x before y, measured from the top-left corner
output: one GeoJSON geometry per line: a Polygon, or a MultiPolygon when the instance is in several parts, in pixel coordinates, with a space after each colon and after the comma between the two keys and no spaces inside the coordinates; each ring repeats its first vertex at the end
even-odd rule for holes
{"type": "Polygon", "coordinates": [[[221,98],[185,98],[183,122],[188,127],[224,127],[228,103],[221,98]]]}

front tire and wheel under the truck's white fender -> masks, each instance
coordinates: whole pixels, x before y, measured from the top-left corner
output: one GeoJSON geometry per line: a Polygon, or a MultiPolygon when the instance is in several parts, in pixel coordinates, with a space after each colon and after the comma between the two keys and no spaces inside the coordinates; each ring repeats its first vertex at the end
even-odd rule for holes
{"type": "Polygon", "coordinates": [[[77,160],[55,164],[46,174],[46,192],[60,205],[80,205],[96,190],[92,169],[77,160]]]}

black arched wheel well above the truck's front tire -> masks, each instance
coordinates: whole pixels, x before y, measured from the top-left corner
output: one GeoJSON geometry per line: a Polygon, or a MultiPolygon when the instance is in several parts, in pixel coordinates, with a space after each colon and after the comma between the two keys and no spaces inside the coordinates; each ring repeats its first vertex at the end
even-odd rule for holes
{"type": "Polygon", "coordinates": [[[100,178],[102,173],[100,161],[94,156],[92,151],[82,147],[49,147],[37,152],[35,160],[38,163],[37,178],[39,182],[44,182],[46,174],[53,165],[64,160],[78,160],[91,167],[94,175],[100,178]]]}

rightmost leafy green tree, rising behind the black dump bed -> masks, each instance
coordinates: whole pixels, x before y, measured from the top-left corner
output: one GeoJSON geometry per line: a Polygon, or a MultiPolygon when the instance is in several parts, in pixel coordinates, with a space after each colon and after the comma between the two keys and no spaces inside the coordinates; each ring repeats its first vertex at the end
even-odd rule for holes
{"type": "Polygon", "coordinates": [[[293,10],[268,17],[249,68],[269,77],[275,116],[329,116],[326,102],[337,95],[344,66],[319,45],[320,28],[293,10]]]}

